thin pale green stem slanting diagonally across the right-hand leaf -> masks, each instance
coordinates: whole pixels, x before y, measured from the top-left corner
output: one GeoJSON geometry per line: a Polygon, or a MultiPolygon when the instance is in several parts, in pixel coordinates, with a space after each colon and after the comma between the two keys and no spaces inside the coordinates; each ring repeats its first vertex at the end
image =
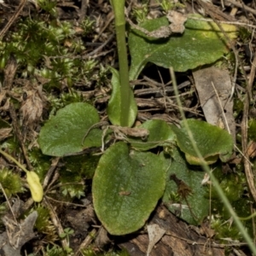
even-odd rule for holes
{"type": "Polygon", "coordinates": [[[175,92],[175,96],[177,97],[177,106],[179,108],[179,111],[181,113],[182,119],[183,119],[183,124],[186,128],[186,130],[188,131],[188,135],[189,135],[189,140],[193,145],[193,148],[195,149],[196,154],[198,155],[198,157],[201,160],[201,166],[203,168],[203,170],[205,172],[207,172],[207,174],[211,177],[212,183],[214,185],[214,189],[216,189],[219,198],[223,201],[224,203],[224,207],[230,212],[230,215],[232,216],[232,218],[234,219],[234,222],[236,223],[237,228],[240,230],[241,235],[243,236],[243,238],[245,239],[245,241],[247,241],[248,243],[248,247],[250,247],[250,249],[252,250],[253,254],[256,255],[256,247],[254,246],[253,240],[252,238],[248,235],[247,230],[245,229],[245,227],[242,225],[239,217],[236,215],[236,212],[234,211],[233,207],[230,205],[230,201],[228,200],[228,198],[224,195],[224,191],[223,189],[221,189],[218,180],[216,177],[214,177],[214,175],[212,174],[212,172],[209,169],[209,166],[207,166],[206,161],[203,159],[201,152],[199,151],[199,149],[197,148],[197,145],[195,143],[195,139],[193,137],[192,132],[189,129],[189,125],[186,121],[186,117],[185,114],[183,112],[183,106],[182,106],[182,102],[178,96],[178,91],[177,91],[177,83],[176,83],[176,79],[175,79],[175,74],[173,72],[172,67],[170,68],[170,73],[171,73],[171,77],[172,77],[172,84],[173,84],[173,88],[174,88],[174,92],[175,92]]]}

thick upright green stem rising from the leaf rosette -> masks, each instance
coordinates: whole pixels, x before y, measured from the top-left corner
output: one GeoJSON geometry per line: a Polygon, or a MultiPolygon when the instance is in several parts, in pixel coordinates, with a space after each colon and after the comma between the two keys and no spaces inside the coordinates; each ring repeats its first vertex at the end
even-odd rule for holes
{"type": "Polygon", "coordinates": [[[128,126],[130,113],[131,88],[129,84],[129,68],[125,41],[125,0],[112,0],[115,17],[115,31],[119,55],[119,83],[121,91],[121,126],[128,126]]]}

